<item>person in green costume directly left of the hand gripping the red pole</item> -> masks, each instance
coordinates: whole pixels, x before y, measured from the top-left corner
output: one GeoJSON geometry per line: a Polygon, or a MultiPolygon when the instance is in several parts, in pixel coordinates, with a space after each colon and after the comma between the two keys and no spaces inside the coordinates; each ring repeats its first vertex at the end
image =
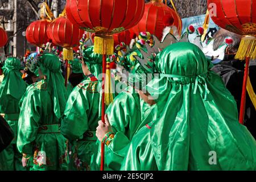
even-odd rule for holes
{"type": "Polygon", "coordinates": [[[72,142],[72,170],[90,170],[93,148],[96,146],[102,56],[93,52],[93,46],[84,49],[82,71],[86,78],[70,94],[65,107],[61,133],[72,142]]]}

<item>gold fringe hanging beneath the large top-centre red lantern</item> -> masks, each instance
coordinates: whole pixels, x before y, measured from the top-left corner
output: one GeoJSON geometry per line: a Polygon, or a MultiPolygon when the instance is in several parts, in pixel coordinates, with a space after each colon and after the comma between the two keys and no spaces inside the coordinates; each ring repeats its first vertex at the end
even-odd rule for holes
{"type": "Polygon", "coordinates": [[[113,55],[114,39],[112,35],[96,34],[94,37],[94,53],[100,55],[113,55]]]}

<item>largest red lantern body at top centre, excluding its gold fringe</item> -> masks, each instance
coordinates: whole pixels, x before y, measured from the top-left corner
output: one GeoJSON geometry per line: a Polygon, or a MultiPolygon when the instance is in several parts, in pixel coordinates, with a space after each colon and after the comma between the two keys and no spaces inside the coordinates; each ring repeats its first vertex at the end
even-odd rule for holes
{"type": "Polygon", "coordinates": [[[144,0],[67,0],[68,19],[88,32],[115,34],[141,20],[144,0]]]}

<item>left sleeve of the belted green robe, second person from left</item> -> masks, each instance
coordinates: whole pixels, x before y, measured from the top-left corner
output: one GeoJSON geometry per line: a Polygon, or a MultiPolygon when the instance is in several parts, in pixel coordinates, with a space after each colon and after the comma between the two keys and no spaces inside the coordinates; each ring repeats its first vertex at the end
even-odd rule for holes
{"type": "Polygon", "coordinates": [[[32,142],[36,139],[39,129],[41,100],[37,90],[28,90],[20,107],[18,121],[17,147],[19,152],[31,155],[32,142]]]}

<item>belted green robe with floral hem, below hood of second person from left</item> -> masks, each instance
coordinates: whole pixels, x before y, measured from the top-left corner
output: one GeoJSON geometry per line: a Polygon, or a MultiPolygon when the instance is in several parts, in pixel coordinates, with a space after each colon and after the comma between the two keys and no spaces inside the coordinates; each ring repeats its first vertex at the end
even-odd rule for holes
{"type": "Polygon", "coordinates": [[[68,140],[60,133],[60,119],[53,113],[48,89],[47,81],[36,82],[20,101],[17,146],[30,156],[31,171],[68,169],[68,140]]]}

